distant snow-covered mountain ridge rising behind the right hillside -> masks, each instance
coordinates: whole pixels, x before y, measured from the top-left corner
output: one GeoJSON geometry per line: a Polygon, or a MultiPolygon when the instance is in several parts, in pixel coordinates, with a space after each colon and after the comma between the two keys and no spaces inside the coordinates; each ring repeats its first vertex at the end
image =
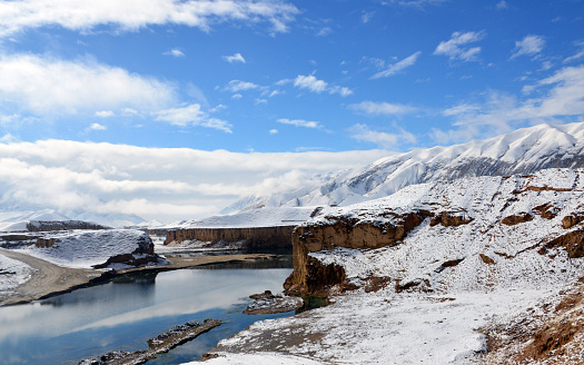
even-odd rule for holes
{"type": "Polygon", "coordinates": [[[325,184],[255,199],[242,210],[265,207],[347,206],[382,198],[420,182],[462,177],[533,174],[553,167],[584,167],[584,122],[538,125],[485,140],[394,155],[325,184]]]}

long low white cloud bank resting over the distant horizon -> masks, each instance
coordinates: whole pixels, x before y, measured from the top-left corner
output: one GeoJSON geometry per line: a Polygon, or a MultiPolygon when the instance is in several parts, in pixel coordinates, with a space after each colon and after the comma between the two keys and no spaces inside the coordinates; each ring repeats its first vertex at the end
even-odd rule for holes
{"type": "Polygon", "coordinates": [[[7,139],[8,144],[0,144],[0,206],[126,213],[162,221],[217,214],[241,197],[296,189],[314,174],[362,166],[387,155],[379,150],[238,154],[7,139]]]}

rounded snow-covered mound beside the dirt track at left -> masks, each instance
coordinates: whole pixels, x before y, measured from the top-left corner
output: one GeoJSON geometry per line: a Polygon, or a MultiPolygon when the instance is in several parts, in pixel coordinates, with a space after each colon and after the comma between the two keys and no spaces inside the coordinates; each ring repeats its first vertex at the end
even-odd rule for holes
{"type": "Polygon", "coordinates": [[[93,265],[106,263],[112,256],[131,254],[139,247],[146,249],[151,243],[146,233],[132,229],[50,233],[44,235],[44,238],[55,238],[55,245],[49,248],[32,245],[16,251],[59,266],[91,268],[93,265]]]}

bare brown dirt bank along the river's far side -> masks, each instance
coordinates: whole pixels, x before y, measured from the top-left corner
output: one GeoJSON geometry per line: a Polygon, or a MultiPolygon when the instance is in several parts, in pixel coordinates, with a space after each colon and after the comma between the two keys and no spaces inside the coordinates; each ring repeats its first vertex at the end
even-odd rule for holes
{"type": "Polygon", "coordinates": [[[145,266],[112,272],[63,267],[30,255],[2,248],[0,248],[0,255],[19,260],[31,267],[31,277],[29,280],[16,288],[11,288],[9,293],[0,293],[0,306],[23,304],[48,298],[77,288],[96,285],[115,276],[129,273],[167,272],[214,264],[265,260],[275,257],[275,255],[266,254],[167,257],[168,264],[166,265],[145,266]]]}

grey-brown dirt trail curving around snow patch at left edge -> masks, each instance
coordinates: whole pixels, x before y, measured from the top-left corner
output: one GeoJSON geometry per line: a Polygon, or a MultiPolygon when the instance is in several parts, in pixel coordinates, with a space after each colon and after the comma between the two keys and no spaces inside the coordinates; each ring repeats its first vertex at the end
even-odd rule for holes
{"type": "Polygon", "coordinates": [[[0,255],[22,262],[33,268],[31,278],[13,289],[17,295],[0,298],[0,305],[31,302],[51,293],[65,292],[89,283],[103,272],[57,266],[40,258],[0,248],[0,255]]]}

